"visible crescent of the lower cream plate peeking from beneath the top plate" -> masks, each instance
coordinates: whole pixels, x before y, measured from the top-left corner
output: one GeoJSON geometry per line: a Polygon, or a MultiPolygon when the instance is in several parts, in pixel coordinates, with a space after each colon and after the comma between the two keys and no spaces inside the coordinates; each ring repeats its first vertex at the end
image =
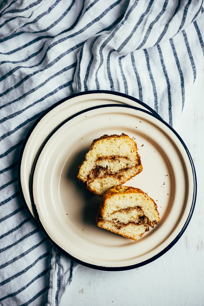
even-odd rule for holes
{"type": "Polygon", "coordinates": [[[38,151],[44,141],[53,129],[73,114],[91,106],[110,103],[139,106],[140,108],[156,114],[156,112],[145,103],[128,95],[112,91],[88,91],[72,95],[55,103],[34,123],[23,143],[18,169],[21,195],[28,212],[33,217],[34,212],[30,200],[30,174],[38,151]]]}

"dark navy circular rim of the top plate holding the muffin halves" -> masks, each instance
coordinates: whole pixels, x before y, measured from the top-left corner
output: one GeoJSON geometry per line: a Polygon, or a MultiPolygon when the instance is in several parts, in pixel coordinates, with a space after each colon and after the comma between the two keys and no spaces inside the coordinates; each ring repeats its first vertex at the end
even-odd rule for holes
{"type": "MultiPolygon", "coordinates": [[[[45,144],[47,143],[48,139],[44,142],[44,144],[42,145],[40,151],[39,151],[39,154],[35,160],[35,163],[34,163],[34,168],[33,168],[33,172],[31,173],[31,180],[30,180],[30,196],[31,196],[31,203],[32,203],[32,207],[33,207],[33,211],[34,211],[34,215],[35,215],[35,218],[36,218],[36,221],[39,225],[39,227],[41,228],[41,230],[43,231],[43,233],[45,234],[45,236],[48,238],[48,240],[56,247],[56,249],[58,249],[62,254],[64,254],[66,257],[68,257],[69,259],[71,260],[74,260],[75,262],[77,263],[80,263],[81,265],[85,266],[85,267],[89,267],[89,268],[92,268],[92,269],[95,269],[95,270],[101,270],[101,271],[125,271],[125,270],[131,270],[131,269],[135,269],[135,268],[138,268],[138,267],[141,267],[141,266],[144,266],[148,263],[151,263],[152,261],[158,259],[159,257],[161,257],[163,254],[165,254],[167,251],[170,250],[170,248],[172,248],[174,246],[174,244],[176,244],[176,242],[181,238],[181,236],[183,235],[184,231],[186,230],[190,220],[191,220],[191,217],[192,217],[192,214],[193,214],[193,211],[194,211],[194,208],[195,208],[195,202],[196,202],[196,195],[197,195],[197,180],[196,180],[196,172],[195,172],[195,166],[194,166],[194,163],[193,163],[193,160],[192,160],[192,157],[190,155],[190,152],[188,151],[188,148],[187,146],[185,145],[184,141],[182,140],[181,136],[179,136],[179,134],[168,124],[166,123],[161,117],[158,117],[157,115],[155,114],[152,114],[151,112],[147,111],[147,110],[143,110],[141,108],[138,108],[138,107],[135,107],[135,106],[131,106],[131,105],[124,105],[124,104],[106,104],[106,105],[98,105],[98,106],[92,106],[92,107],[89,107],[85,110],[81,110],[80,112],[76,113],[76,114],[73,114],[72,116],[70,116],[69,118],[67,118],[66,120],[64,120],[60,125],[58,125],[55,129],[53,129],[53,131],[51,132],[50,134],[50,137],[63,125],[65,124],[66,122],[70,121],[71,119],[73,119],[74,117],[80,115],[80,114],[83,114],[87,111],[91,111],[91,110],[95,110],[95,109],[100,109],[100,108],[104,108],[104,107],[124,107],[124,108],[131,108],[131,109],[134,109],[134,110],[140,110],[146,114],[149,114],[150,116],[153,116],[154,118],[156,118],[157,120],[161,121],[164,125],[166,125],[167,128],[169,128],[174,134],[175,136],[178,138],[178,140],[181,142],[182,146],[184,147],[186,153],[187,153],[187,156],[188,156],[188,159],[189,159],[189,162],[190,162],[190,165],[191,165],[191,170],[192,170],[192,175],[193,175],[193,196],[192,196],[192,203],[191,203],[191,208],[190,208],[190,211],[189,211],[189,214],[188,214],[188,217],[184,223],[184,226],[182,227],[181,231],[177,234],[177,236],[174,238],[173,241],[170,242],[170,244],[168,244],[163,250],[161,250],[159,253],[157,253],[156,255],[152,256],[151,258],[147,259],[147,260],[144,260],[140,263],[136,263],[136,264],[133,264],[133,265],[129,265],[129,266],[122,266],[122,267],[106,267],[106,266],[99,266],[99,265],[95,265],[95,264],[91,264],[91,263],[86,263],[80,259],[77,259],[75,258],[74,256],[72,256],[71,254],[69,254],[68,252],[66,252],[63,248],[61,248],[55,241],[52,240],[51,237],[49,237],[48,233],[46,232],[46,229],[44,228],[44,226],[42,225],[41,221],[40,221],[40,218],[39,218],[39,215],[38,215],[38,210],[37,210],[37,207],[34,203],[34,194],[33,194],[33,180],[34,180],[34,171],[35,171],[35,167],[36,167],[36,164],[37,164],[37,161],[38,161],[38,158],[41,154],[41,151],[43,150],[43,148],[45,147],[45,144]]],[[[50,138],[49,137],[49,138],[50,138]]]]}

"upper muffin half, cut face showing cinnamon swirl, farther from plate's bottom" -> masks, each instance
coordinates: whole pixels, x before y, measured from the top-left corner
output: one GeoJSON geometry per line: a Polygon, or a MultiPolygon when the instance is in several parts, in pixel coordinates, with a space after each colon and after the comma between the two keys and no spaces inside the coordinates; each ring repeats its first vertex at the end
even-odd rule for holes
{"type": "Polygon", "coordinates": [[[109,188],[124,184],[141,171],[137,144],[122,133],[93,140],[77,177],[91,192],[102,196],[109,188]]]}

